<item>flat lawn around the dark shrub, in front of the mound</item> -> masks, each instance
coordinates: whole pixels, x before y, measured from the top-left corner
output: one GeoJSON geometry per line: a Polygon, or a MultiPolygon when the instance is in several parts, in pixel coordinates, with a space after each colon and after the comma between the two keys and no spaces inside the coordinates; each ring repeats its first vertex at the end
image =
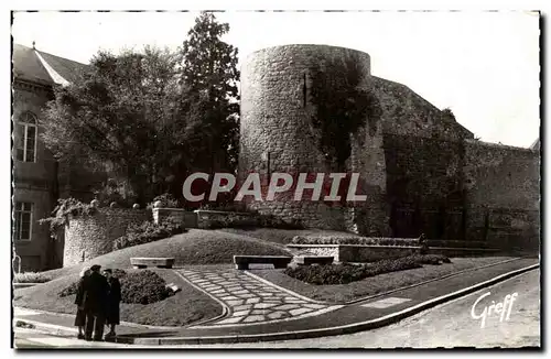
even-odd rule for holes
{"type": "MultiPolygon", "coordinates": [[[[128,270],[128,272],[138,270],[128,270]]],[[[184,282],[172,270],[152,270],[166,283],[174,283],[182,289],[175,295],[161,302],[142,304],[120,304],[120,318],[125,322],[154,326],[184,326],[197,320],[205,320],[222,314],[222,307],[210,297],[184,282]]],[[[15,290],[13,305],[32,309],[75,314],[75,295],[60,297],[58,293],[78,279],[65,275],[48,283],[33,287],[15,290]]]]}

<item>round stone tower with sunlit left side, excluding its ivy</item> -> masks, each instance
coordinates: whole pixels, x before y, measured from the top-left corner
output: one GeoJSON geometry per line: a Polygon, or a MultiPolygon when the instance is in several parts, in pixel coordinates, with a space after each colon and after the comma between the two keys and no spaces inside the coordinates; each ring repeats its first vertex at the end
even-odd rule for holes
{"type": "MultiPolygon", "coordinates": [[[[323,98],[320,91],[324,91],[327,97],[332,90],[343,94],[343,90],[346,93],[369,87],[370,57],[355,50],[327,45],[284,45],[249,55],[241,68],[240,183],[250,172],[260,174],[263,186],[277,172],[337,172],[327,160],[326,146],[321,145],[328,143],[338,148],[342,144],[332,144],[333,140],[323,142],[323,126],[320,124],[317,111],[320,99],[323,98]]],[[[338,117],[338,113],[335,116],[338,117]]],[[[364,176],[360,178],[364,185],[375,183],[380,187],[378,192],[383,192],[385,161],[380,123],[359,128],[350,135],[350,141],[352,153],[346,162],[341,163],[341,171],[345,167],[348,173],[359,172],[364,176]],[[377,150],[369,151],[371,146],[377,150]],[[361,153],[366,151],[377,157],[364,156],[361,153]],[[381,156],[382,161],[379,161],[381,156]],[[374,167],[374,161],[382,163],[382,167],[374,167]],[[366,174],[372,178],[366,178],[366,174]]],[[[296,176],[293,177],[296,180],[296,176]]],[[[311,193],[306,191],[306,198],[302,200],[293,200],[289,194],[284,198],[283,194],[276,196],[272,202],[253,200],[250,196],[246,200],[248,208],[288,222],[296,220],[307,227],[354,229],[350,214],[352,217],[355,215],[354,210],[347,208],[348,205],[312,202],[309,200],[311,193]]]]}

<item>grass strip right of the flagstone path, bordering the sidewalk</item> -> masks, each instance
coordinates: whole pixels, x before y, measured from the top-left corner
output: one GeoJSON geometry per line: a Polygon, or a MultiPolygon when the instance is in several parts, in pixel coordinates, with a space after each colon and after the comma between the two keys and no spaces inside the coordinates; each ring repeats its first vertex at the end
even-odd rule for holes
{"type": "Polygon", "coordinates": [[[441,278],[463,270],[496,263],[509,257],[452,258],[452,263],[423,265],[400,272],[385,273],[348,284],[314,285],[283,273],[283,270],[251,270],[277,285],[283,286],[316,301],[343,303],[360,297],[385,293],[402,286],[441,278]]]}

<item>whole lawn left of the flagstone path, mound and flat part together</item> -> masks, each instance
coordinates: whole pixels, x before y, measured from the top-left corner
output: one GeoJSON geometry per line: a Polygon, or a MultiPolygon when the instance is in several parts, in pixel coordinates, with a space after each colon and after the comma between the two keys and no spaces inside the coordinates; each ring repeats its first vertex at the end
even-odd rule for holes
{"type": "MultiPolygon", "coordinates": [[[[84,266],[129,270],[131,257],[173,257],[179,266],[228,266],[234,254],[290,255],[273,243],[256,238],[213,230],[191,229],[158,241],[123,248],[76,265],[40,273],[52,281],[13,292],[15,306],[56,313],[75,313],[74,295],[60,297],[58,293],[78,279],[84,266]]],[[[156,326],[183,326],[222,314],[222,307],[202,292],[183,282],[172,270],[154,270],[166,283],[175,283],[182,291],[161,302],[142,304],[121,303],[121,320],[156,326]]]]}

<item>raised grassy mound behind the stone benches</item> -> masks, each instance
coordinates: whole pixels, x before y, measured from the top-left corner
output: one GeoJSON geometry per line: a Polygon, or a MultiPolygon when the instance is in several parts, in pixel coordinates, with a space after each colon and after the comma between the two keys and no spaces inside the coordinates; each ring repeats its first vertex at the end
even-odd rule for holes
{"type": "Polygon", "coordinates": [[[52,278],[77,274],[84,266],[130,268],[131,257],[173,257],[175,265],[228,264],[234,255],[290,255],[273,243],[251,237],[216,230],[191,229],[185,233],[154,242],[123,248],[73,266],[42,272],[52,278]]]}

